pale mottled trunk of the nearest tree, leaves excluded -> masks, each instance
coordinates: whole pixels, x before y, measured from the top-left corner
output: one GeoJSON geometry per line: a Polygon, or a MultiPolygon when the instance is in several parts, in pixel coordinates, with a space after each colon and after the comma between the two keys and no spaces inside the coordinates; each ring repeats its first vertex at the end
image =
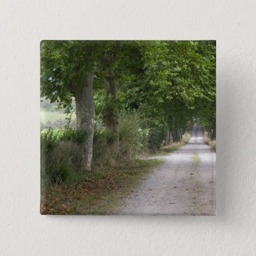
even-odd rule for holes
{"type": "Polygon", "coordinates": [[[91,170],[94,134],[93,73],[84,79],[84,87],[75,87],[76,128],[84,136],[82,142],[83,171],[91,170]]]}

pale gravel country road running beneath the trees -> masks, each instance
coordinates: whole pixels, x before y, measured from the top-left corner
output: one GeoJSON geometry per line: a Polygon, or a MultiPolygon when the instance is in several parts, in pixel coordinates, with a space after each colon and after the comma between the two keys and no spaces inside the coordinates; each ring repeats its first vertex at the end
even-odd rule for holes
{"type": "Polygon", "coordinates": [[[142,181],[119,215],[216,215],[216,153],[194,124],[192,137],[142,181]]]}

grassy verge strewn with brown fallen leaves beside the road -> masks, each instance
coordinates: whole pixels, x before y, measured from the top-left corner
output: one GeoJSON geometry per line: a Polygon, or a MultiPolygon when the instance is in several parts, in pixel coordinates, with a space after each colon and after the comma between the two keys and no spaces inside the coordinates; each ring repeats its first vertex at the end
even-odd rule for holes
{"type": "Polygon", "coordinates": [[[69,186],[54,185],[41,194],[42,215],[113,215],[139,181],[164,160],[117,163],[114,167],[77,174],[69,186]]]}

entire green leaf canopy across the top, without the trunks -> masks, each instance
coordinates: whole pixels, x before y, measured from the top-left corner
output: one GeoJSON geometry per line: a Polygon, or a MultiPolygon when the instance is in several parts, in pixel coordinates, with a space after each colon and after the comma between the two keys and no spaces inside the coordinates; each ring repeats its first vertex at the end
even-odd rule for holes
{"type": "Polygon", "coordinates": [[[96,115],[103,117],[109,107],[143,106],[157,125],[199,117],[209,126],[216,118],[215,62],[216,42],[209,40],[42,41],[41,95],[71,111],[74,84],[83,86],[82,79],[93,70],[96,115]],[[116,73],[117,101],[104,96],[103,77],[109,68],[116,73]]]}

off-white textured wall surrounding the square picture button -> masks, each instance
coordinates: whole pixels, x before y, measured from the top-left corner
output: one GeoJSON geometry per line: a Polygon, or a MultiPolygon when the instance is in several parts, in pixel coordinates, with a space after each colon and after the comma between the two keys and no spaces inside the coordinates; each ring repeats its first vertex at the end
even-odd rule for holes
{"type": "Polygon", "coordinates": [[[256,2],[2,0],[1,255],[255,255],[256,2]],[[41,216],[39,41],[217,40],[217,217],[41,216]]]}

